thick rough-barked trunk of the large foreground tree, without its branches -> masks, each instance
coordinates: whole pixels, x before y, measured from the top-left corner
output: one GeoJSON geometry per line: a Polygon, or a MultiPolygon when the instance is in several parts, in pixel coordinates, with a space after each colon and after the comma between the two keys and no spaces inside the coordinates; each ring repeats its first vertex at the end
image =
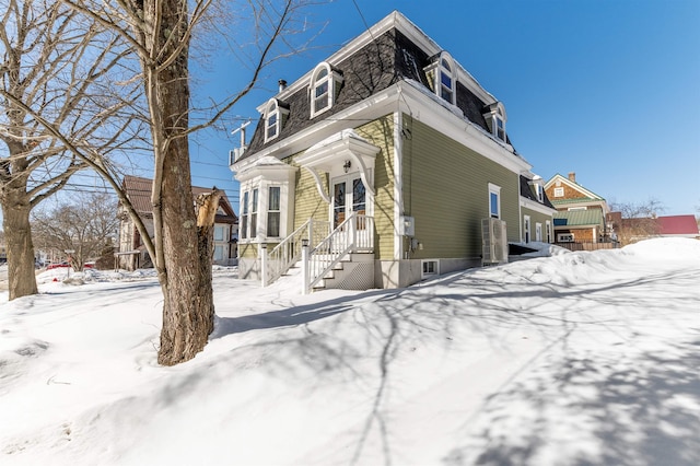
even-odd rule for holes
{"type": "MultiPolygon", "coordinates": [[[[177,45],[179,40],[173,40],[174,36],[183,34],[184,24],[187,24],[186,18],[178,13],[187,11],[187,3],[185,0],[165,0],[162,11],[158,34],[164,43],[177,45]]],[[[163,56],[167,57],[168,54],[163,56]]],[[[151,107],[153,120],[162,123],[162,133],[159,135],[162,139],[154,137],[155,150],[163,152],[155,153],[156,164],[162,160],[163,165],[162,176],[154,177],[154,184],[160,180],[154,193],[160,190],[162,195],[160,206],[158,196],[154,196],[154,210],[160,209],[160,212],[154,211],[154,226],[155,234],[162,234],[163,248],[163,254],[159,254],[161,259],[156,257],[155,263],[164,296],[158,361],[164,365],[194,358],[207,345],[209,334],[213,330],[211,256],[200,252],[192,203],[186,136],[189,112],[187,60],[188,47],[184,47],[175,61],[159,72],[150,73],[153,81],[147,83],[150,85],[147,92],[154,92],[158,102],[156,108],[151,107]],[[159,115],[153,115],[154,112],[159,115]]],[[[154,131],[159,131],[159,128],[154,128],[154,131]]]]}

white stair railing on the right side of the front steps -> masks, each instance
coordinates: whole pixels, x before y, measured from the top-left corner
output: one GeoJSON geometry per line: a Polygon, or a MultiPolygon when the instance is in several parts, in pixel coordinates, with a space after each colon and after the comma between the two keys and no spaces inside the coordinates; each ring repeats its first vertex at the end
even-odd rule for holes
{"type": "Polygon", "coordinates": [[[350,253],[374,251],[374,218],[352,213],[315,247],[308,244],[302,251],[302,292],[311,290],[345,256],[350,253]]]}

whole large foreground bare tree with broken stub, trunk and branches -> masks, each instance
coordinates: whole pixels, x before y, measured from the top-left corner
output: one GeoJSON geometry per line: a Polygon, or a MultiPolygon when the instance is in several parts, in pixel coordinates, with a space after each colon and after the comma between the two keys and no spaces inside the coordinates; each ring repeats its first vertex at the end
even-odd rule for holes
{"type": "MultiPolygon", "coordinates": [[[[214,0],[63,1],[124,37],[141,63],[154,156],[154,238],[145,246],[164,298],[159,362],[177,364],[201,351],[214,316],[212,226],[220,193],[214,189],[210,197],[198,199],[198,213],[192,209],[188,136],[215,123],[253,89],[262,68],[273,59],[273,46],[284,43],[293,13],[304,2],[244,3],[252,9],[256,26],[249,80],[225,102],[198,112],[207,117],[190,125],[190,44],[197,26],[215,23],[215,15],[209,14],[219,5],[214,0]]],[[[114,179],[109,183],[116,186],[114,179]]],[[[120,200],[125,201],[121,195],[120,200]]],[[[128,208],[128,199],[124,203],[128,208]]],[[[132,209],[129,213],[135,220],[138,217],[132,209]]]]}

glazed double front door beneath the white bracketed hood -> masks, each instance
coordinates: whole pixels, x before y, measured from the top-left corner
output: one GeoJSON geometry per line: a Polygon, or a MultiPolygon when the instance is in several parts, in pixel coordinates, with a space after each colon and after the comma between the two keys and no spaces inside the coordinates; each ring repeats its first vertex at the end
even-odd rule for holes
{"type": "MultiPolygon", "coordinates": [[[[366,214],[366,189],[360,175],[351,174],[332,182],[332,228],[336,229],[352,213],[366,214]]],[[[355,222],[358,243],[366,241],[366,220],[361,217],[355,222]],[[364,236],[363,236],[364,235],[364,236]]]]}

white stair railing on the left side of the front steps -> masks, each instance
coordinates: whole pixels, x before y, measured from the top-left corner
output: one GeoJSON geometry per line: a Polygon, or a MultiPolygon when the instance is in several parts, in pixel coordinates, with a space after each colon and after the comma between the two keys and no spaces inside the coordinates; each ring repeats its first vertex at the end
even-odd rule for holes
{"type": "Polygon", "coordinates": [[[317,245],[328,236],[330,222],[310,219],[267,254],[262,254],[262,287],[284,275],[302,256],[302,242],[317,245]]]}

